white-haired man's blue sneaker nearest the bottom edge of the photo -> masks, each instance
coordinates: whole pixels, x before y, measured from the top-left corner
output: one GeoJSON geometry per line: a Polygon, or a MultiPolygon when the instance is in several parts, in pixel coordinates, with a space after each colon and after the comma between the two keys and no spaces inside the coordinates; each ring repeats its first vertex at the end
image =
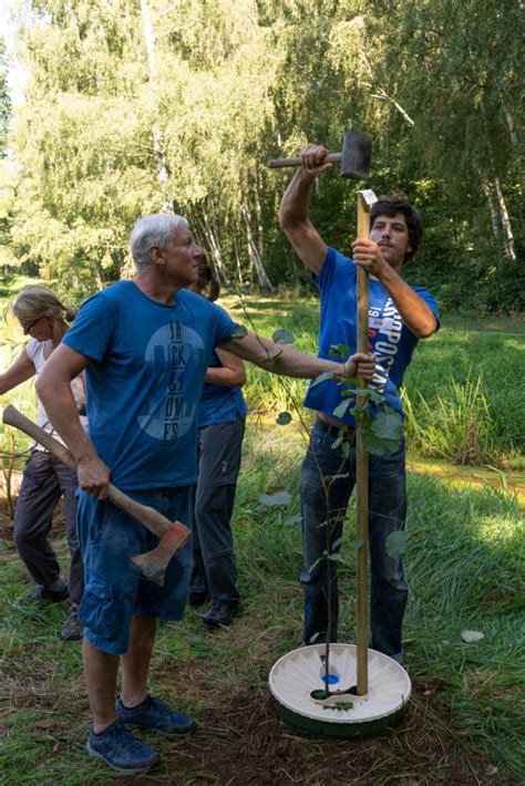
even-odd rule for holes
{"type": "Polygon", "coordinates": [[[85,749],[90,756],[102,758],[121,775],[145,773],[159,762],[158,754],[135,740],[119,720],[101,734],[95,734],[91,728],[85,749]]]}

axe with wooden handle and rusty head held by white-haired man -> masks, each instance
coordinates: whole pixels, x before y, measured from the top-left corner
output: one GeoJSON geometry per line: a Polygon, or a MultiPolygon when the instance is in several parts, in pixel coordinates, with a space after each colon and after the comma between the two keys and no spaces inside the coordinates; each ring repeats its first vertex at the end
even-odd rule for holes
{"type": "MultiPolygon", "coordinates": [[[[14,406],[7,406],[3,410],[3,422],[9,426],[14,426],[39,442],[59,462],[72,472],[76,473],[76,463],[64,445],[54,439],[50,434],[40,428],[35,423],[22,415],[14,406]]],[[[110,483],[110,501],[143,527],[156,535],[161,539],[156,546],[147,554],[133,557],[133,562],[140,568],[142,573],[155,581],[157,585],[164,583],[164,573],[175,551],[184,546],[192,535],[192,530],[181,521],[169,521],[165,516],[147,505],[141,505],[119,488],[110,483]]]]}

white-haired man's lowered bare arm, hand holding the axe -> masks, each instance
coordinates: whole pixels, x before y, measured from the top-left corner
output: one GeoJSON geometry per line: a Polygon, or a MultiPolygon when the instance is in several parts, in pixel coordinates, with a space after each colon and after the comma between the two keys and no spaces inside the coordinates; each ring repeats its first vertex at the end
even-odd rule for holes
{"type": "Polygon", "coordinates": [[[105,499],[110,472],[82,428],[71,390],[71,380],[90,362],[91,359],[86,355],[60,344],[40,374],[37,393],[51,423],[76,462],[80,487],[99,499],[105,499]]]}

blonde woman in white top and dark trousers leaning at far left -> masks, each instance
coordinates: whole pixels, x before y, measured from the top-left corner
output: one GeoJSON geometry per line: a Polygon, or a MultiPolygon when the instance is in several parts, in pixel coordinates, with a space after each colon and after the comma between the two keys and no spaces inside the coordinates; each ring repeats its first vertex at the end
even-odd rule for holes
{"type": "MultiPolygon", "coordinates": [[[[40,285],[24,289],[12,309],[30,339],[14,363],[0,374],[0,394],[40,374],[68,331],[68,322],[72,322],[76,313],[74,307],[64,306],[50,289],[40,285]]],[[[85,394],[82,376],[73,380],[71,386],[85,428],[87,421],[83,415],[85,394]]],[[[40,400],[38,423],[60,439],[40,400]]],[[[20,602],[60,602],[70,598],[71,613],[60,633],[64,641],[82,637],[78,607],[84,591],[84,571],[76,540],[78,486],[74,473],[34,444],[23,470],[13,525],[18,552],[37,585],[20,602]],[[48,539],[61,496],[64,498],[65,531],[71,554],[69,582],[60,576],[59,562],[48,539]]]]}

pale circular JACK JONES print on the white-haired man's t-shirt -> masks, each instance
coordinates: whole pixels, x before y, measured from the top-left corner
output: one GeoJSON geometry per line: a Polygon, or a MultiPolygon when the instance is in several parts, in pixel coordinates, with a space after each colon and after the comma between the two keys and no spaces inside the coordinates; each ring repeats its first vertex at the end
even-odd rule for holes
{"type": "Polygon", "coordinates": [[[173,444],[192,428],[199,401],[194,372],[203,366],[203,354],[202,338],[179,322],[169,322],[152,335],[144,360],[162,373],[155,396],[144,402],[137,417],[146,434],[173,444]]]}

